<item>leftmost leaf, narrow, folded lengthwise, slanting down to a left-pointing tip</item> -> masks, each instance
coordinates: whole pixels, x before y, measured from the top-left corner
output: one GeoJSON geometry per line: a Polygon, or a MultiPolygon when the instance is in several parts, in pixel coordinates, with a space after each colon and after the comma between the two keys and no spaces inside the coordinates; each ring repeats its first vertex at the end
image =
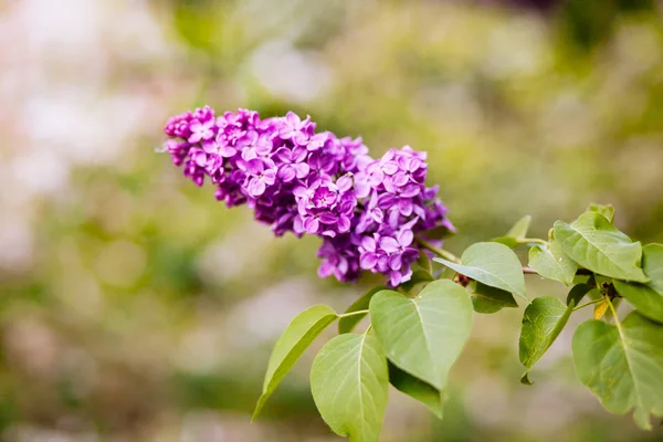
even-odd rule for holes
{"type": "Polygon", "coordinates": [[[336,312],[332,307],[316,305],[299,313],[288,324],[283,335],[276,341],[276,346],[274,346],[274,350],[270,357],[267,372],[263,382],[263,392],[257,400],[252,419],[257,418],[266,400],[272,396],[272,392],[274,392],[290,369],[293,368],[304,350],[336,318],[336,312]]]}

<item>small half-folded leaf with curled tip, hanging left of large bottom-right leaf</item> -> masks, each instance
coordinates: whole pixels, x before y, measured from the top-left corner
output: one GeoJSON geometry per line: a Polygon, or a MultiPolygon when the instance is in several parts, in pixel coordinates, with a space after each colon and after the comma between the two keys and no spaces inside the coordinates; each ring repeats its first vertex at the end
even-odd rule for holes
{"type": "Polygon", "coordinates": [[[530,385],[528,375],[534,365],[550,348],[571,316],[575,303],[566,306],[552,296],[537,297],[525,308],[520,330],[519,357],[527,371],[520,381],[530,385]]]}

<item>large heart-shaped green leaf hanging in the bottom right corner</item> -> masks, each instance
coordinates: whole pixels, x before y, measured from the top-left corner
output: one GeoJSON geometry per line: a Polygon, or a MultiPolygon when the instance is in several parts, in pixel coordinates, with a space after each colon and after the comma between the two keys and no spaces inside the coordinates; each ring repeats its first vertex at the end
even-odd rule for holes
{"type": "Polygon", "coordinates": [[[635,422],[651,429],[650,413],[663,417],[663,326],[631,312],[623,323],[580,324],[573,360],[580,381],[608,410],[634,409],[635,422]]]}

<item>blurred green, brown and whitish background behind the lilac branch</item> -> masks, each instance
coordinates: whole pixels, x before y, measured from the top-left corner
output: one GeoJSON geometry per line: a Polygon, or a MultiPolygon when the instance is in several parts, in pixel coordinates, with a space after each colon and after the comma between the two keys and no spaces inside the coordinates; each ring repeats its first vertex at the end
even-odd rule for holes
{"type": "MultiPolygon", "coordinates": [[[[371,280],[319,281],[315,239],[183,179],[156,150],[187,108],[294,109],[375,156],[427,150],[457,253],[594,201],[663,241],[654,0],[4,0],[0,41],[1,440],[338,440],[307,389],[316,348],[250,412],[288,320],[371,280]]],[[[382,440],[663,440],[580,386],[572,328],[522,386],[520,316],[476,317],[442,422],[391,391],[382,440]]]]}

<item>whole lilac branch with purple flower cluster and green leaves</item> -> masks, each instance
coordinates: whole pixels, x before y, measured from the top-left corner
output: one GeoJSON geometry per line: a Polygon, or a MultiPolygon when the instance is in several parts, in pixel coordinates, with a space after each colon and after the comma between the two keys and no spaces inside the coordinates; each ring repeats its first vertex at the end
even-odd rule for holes
{"type": "Polygon", "coordinates": [[[339,336],[315,357],[309,377],[316,407],[334,432],[377,442],[389,382],[441,418],[449,369],[470,337],[473,312],[495,313],[516,307],[516,297],[527,301],[525,274],[536,273],[567,285],[569,294],[566,304],[543,296],[525,308],[520,381],[532,383],[529,371],[569,317],[594,306],[594,319],[573,335],[579,379],[609,410],[634,409],[635,422],[652,428],[651,415],[663,410],[657,381],[663,359],[656,359],[663,355],[663,244],[633,242],[612,225],[611,206],[591,204],[570,224],[555,222],[548,241],[528,238],[530,218],[524,217],[505,236],[472,244],[459,257],[431,240],[453,227],[438,187],[425,187],[424,152],[404,146],[373,159],[360,138],[315,128],[309,117],[293,113],[262,119],[240,109],[215,117],[210,107],[176,116],[165,127],[172,160],[198,186],[211,182],[228,207],[249,206],[276,235],[319,236],[319,276],[355,281],[370,271],[392,287],[400,285],[398,292],[373,288],[343,314],[316,305],[297,315],[272,352],[254,418],[299,355],[336,319],[339,336]],[[519,245],[529,248],[527,267],[514,252],[519,245]],[[412,264],[429,251],[436,255],[432,261],[453,270],[453,280],[429,265],[412,276],[412,264]],[[408,281],[412,284],[401,285],[408,281]],[[417,282],[425,286],[413,293],[417,282]],[[594,291],[598,296],[580,304],[594,291]],[[619,319],[622,298],[633,309],[619,319]],[[607,311],[610,322],[601,320],[607,311]],[[367,315],[368,328],[352,333],[367,315]],[[555,326],[543,329],[540,323],[555,326]],[[653,355],[644,371],[625,364],[633,345],[653,355]],[[387,360],[398,370],[388,369],[387,360]],[[357,372],[357,364],[368,369],[357,372]]]}

